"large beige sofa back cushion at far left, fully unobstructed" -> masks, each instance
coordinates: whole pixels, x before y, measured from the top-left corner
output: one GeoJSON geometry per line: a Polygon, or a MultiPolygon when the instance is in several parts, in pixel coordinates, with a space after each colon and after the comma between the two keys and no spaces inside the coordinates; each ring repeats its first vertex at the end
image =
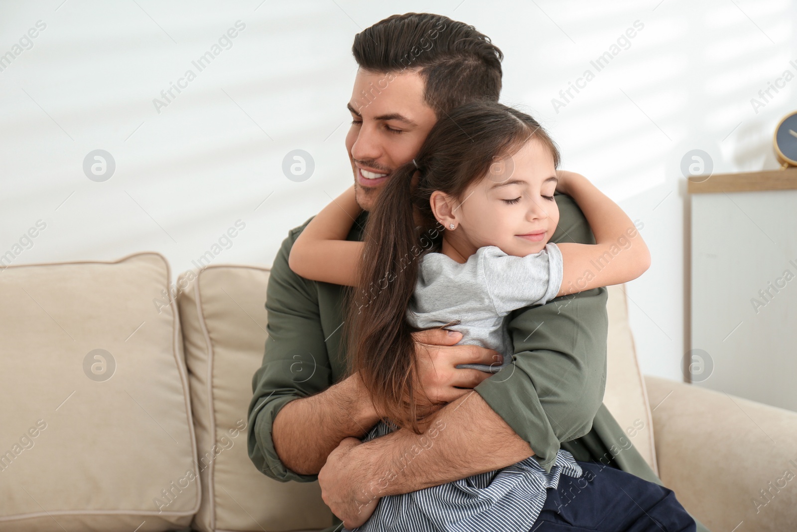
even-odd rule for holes
{"type": "Polygon", "coordinates": [[[169,266],[0,270],[0,529],[168,530],[198,510],[169,266]]]}

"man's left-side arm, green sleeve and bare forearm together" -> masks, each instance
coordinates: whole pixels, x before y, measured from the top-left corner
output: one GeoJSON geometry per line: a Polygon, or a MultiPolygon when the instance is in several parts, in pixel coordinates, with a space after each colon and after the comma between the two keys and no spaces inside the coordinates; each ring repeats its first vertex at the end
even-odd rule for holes
{"type": "Polygon", "coordinates": [[[342,439],[362,437],[378,418],[356,377],[331,386],[316,287],[288,266],[303,227],[285,238],[269,276],[269,338],[252,380],[248,443],[249,458],[265,475],[309,482],[342,439]]]}

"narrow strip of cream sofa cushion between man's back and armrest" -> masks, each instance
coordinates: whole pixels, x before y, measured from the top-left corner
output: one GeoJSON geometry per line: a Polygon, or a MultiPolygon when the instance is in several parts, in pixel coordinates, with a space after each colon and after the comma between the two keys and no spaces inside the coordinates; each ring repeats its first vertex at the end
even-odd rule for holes
{"type": "MultiPolygon", "coordinates": [[[[628,441],[634,444],[642,458],[658,475],[650,405],[634,349],[634,337],[628,324],[626,286],[607,286],[607,290],[609,338],[603,404],[626,432],[628,441]]],[[[621,444],[626,447],[624,443],[621,444]]]]}

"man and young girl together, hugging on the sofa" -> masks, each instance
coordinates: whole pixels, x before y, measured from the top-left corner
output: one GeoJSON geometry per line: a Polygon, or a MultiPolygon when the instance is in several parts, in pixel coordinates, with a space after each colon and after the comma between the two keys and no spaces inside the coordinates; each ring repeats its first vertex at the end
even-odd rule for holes
{"type": "Polygon", "coordinates": [[[250,459],[318,479],[328,530],[707,530],[603,405],[605,287],[650,266],[634,222],[499,103],[473,26],[394,15],[352,53],[354,183],[274,260],[250,459]]]}

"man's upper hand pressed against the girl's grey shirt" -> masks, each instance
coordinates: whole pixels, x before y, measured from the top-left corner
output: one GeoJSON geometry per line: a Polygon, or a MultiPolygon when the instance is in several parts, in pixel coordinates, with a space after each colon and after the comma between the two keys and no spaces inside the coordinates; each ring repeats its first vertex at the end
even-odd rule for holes
{"type": "Polygon", "coordinates": [[[478,369],[458,369],[459,364],[501,364],[503,357],[479,345],[454,345],[461,333],[445,329],[426,329],[413,333],[418,354],[418,373],[423,391],[430,400],[431,412],[465,395],[493,373],[478,369]],[[436,408],[435,408],[436,407],[436,408]]]}

